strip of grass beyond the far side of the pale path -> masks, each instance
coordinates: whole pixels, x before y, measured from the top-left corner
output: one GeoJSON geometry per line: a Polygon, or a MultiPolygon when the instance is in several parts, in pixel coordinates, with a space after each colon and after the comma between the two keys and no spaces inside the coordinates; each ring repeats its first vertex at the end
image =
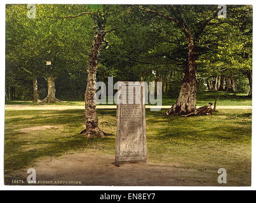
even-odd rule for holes
{"type": "MultiPolygon", "coordinates": [[[[246,94],[243,93],[226,93],[226,92],[213,92],[213,91],[201,91],[198,93],[198,106],[207,105],[208,102],[212,101],[214,103],[215,95],[219,95],[218,105],[220,106],[251,106],[252,98],[248,98],[246,94]]],[[[170,96],[163,96],[162,105],[173,105],[176,98],[171,98],[170,96]]],[[[6,104],[13,105],[84,105],[84,101],[81,100],[70,100],[61,103],[53,104],[35,104],[32,101],[7,101],[6,104]]],[[[113,105],[113,104],[102,104],[102,105],[113,105]]],[[[150,104],[149,104],[150,105],[150,104]]]]}

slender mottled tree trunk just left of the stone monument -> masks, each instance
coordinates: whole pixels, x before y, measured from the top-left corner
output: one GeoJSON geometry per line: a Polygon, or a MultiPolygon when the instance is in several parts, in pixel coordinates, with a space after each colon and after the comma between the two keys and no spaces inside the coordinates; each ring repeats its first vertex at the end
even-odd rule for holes
{"type": "Polygon", "coordinates": [[[80,134],[88,137],[102,137],[105,133],[98,128],[98,117],[96,112],[96,103],[93,100],[93,96],[96,93],[94,88],[96,83],[97,74],[97,60],[100,47],[102,46],[102,41],[105,36],[105,31],[100,30],[94,38],[93,50],[89,59],[88,65],[88,79],[86,91],[84,94],[85,101],[85,129],[81,131],[80,134]]]}

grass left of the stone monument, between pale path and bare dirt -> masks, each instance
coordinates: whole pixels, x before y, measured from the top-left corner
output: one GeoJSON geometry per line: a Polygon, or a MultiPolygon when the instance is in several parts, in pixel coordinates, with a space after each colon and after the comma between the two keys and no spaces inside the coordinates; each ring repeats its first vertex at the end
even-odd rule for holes
{"type": "MultiPolygon", "coordinates": [[[[15,111],[15,114],[13,113],[12,111],[7,111],[5,119],[4,169],[7,173],[8,171],[29,166],[38,158],[54,157],[71,150],[93,148],[100,151],[107,149],[114,152],[115,138],[109,137],[114,135],[112,133],[107,132],[105,138],[85,138],[78,135],[84,126],[83,110],[21,110],[15,111]],[[26,118],[25,116],[27,115],[32,115],[32,117],[26,118]],[[11,116],[14,116],[14,118],[11,118],[11,116]],[[43,125],[60,126],[60,129],[57,129],[55,136],[52,137],[47,136],[47,134],[54,133],[55,131],[37,131],[37,134],[41,133],[37,137],[37,141],[33,140],[34,133],[18,132],[18,129],[21,128],[43,125]],[[71,135],[69,136],[69,134],[71,135]],[[30,137],[32,140],[28,140],[30,137]],[[32,147],[31,150],[29,150],[29,147],[32,147]],[[26,150],[26,148],[28,149],[26,150]]],[[[116,117],[116,110],[97,110],[97,113],[98,116],[102,117],[103,126],[109,126],[108,122],[112,122],[111,117],[113,119],[116,117]],[[106,122],[104,122],[104,117],[106,122]]]]}

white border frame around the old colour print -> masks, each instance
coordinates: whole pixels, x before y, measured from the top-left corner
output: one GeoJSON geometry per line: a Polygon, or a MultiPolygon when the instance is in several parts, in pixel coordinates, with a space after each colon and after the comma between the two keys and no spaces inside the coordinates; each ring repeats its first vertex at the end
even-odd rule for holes
{"type": "MultiPolygon", "coordinates": [[[[1,140],[0,140],[0,190],[255,190],[256,189],[256,176],[255,176],[255,169],[256,169],[256,162],[255,162],[255,138],[252,136],[252,187],[104,187],[104,186],[5,186],[4,185],[4,91],[5,91],[5,84],[4,84],[4,75],[5,75],[5,4],[191,4],[191,1],[183,0],[172,0],[172,1],[156,1],[156,0],[94,0],[94,1],[87,1],[87,0],[55,0],[55,1],[39,1],[39,0],[10,0],[10,1],[1,1],[1,69],[0,75],[2,75],[0,81],[0,132],[1,132],[1,140]]],[[[226,1],[192,1],[193,4],[252,4],[253,5],[253,22],[255,22],[255,8],[254,5],[256,4],[255,1],[238,1],[238,0],[226,0],[226,1]]],[[[255,25],[253,23],[253,30],[255,29],[255,25]]],[[[253,56],[255,53],[255,32],[253,32],[253,56]]],[[[255,57],[253,57],[253,89],[256,84],[256,69],[255,69],[255,57]]],[[[255,99],[255,94],[253,93],[253,101],[255,99]]],[[[254,107],[254,102],[252,103],[254,107]]],[[[255,134],[255,109],[252,109],[252,135],[255,134]]]]}

